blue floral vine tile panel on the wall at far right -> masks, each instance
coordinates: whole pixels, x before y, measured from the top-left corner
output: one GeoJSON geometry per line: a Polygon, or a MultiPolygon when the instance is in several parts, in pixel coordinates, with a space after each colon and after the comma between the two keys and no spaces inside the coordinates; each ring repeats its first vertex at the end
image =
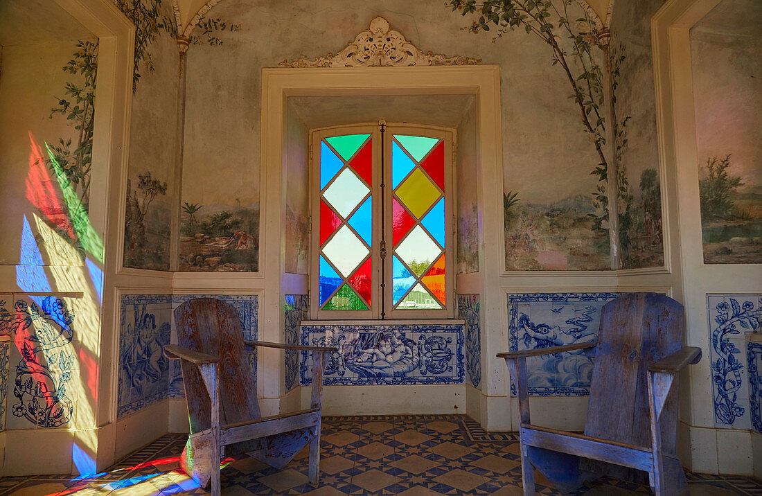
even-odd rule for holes
{"type": "Polygon", "coordinates": [[[760,331],[762,295],[707,295],[715,426],[751,429],[746,334],[760,331]]]}

